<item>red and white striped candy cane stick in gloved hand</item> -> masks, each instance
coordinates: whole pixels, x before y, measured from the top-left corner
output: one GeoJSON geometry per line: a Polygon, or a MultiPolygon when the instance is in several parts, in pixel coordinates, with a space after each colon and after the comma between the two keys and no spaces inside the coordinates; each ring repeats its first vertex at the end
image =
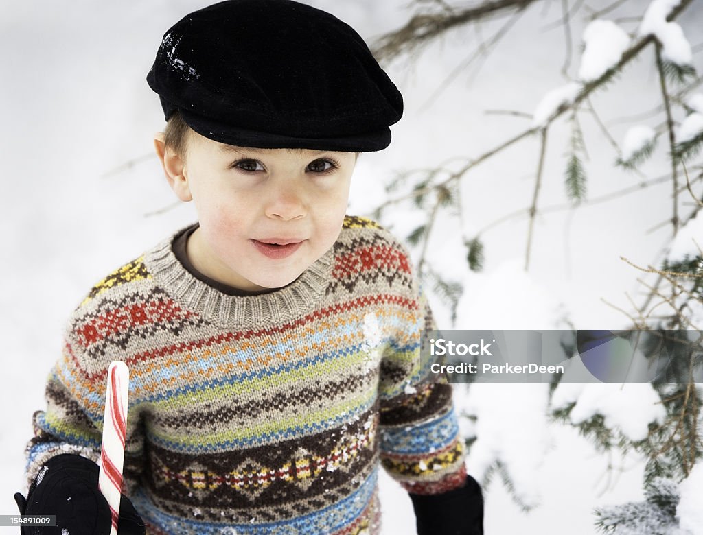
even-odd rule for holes
{"type": "Polygon", "coordinates": [[[127,436],[128,389],[129,369],[127,369],[127,364],[119,361],[110,363],[108,392],[105,398],[103,449],[100,455],[101,466],[98,479],[98,487],[108,501],[112,515],[110,535],[117,535],[117,520],[120,517],[124,440],[127,436]]]}

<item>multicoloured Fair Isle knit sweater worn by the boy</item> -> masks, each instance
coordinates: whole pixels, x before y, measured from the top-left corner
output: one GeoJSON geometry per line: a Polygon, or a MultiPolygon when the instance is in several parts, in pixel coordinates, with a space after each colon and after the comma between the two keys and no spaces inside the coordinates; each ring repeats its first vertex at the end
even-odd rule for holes
{"type": "Polygon", "coordinates": [[[60,453],[99,460],[119,359],[130,369],[123,492],[149,533],[375,534],[379,464],[415,494],[463,484],[451,387],[419,358],[430,311],[387,231],[347,217],[295,282],[257,296],[193,277],[173,241],[72,315],[34,415],[30,481],[60,453]]]}

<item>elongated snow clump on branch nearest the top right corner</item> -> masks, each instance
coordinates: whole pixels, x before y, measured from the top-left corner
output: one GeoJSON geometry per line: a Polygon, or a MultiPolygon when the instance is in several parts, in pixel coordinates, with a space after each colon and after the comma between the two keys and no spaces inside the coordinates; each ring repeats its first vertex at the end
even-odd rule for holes
{"type": "Polygon", "coordinates": [[[654,0],[647,7],[638,34],[641,37],[653,34],[662,43],[662,57],[676,65],[692,65],[691,45],[676,22],[667,22],[666,17],[680,0],[654,0]]]}

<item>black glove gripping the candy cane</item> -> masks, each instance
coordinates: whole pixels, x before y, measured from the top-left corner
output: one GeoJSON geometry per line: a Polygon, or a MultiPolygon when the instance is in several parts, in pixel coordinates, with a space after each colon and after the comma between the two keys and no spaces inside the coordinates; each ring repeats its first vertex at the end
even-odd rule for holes
{"type": "MultiPolygon", "coordinates": [[[[22,515],[56,515],[56,527],[22,526],[22,535],[108,535],[110,506],[98,489],[96,463],[73,454],[52,457],[41,467],[27,499],[19,492],[15,501],[22,515]]],[[[144,535],[144,522],[131,501],[120,500],[119,535],[144,535]]]]}

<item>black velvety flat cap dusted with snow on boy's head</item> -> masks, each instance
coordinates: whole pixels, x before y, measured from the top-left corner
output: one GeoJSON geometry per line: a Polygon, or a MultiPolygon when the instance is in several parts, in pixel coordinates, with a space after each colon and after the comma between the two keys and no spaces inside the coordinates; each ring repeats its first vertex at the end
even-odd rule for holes
{"type": "Polygon", "coordinates": [[[368,152],[403,98],[352,27],[291,0],[227,0],[164,35],[147,81],[166,119],[259,148],[368,152]]]}

